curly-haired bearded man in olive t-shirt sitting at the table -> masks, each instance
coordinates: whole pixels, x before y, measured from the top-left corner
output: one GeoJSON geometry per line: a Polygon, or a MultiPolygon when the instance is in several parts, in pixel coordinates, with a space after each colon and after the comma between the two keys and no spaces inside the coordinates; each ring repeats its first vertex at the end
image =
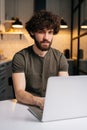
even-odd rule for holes
{"type": "Polygon", "coordinates": [[[51,48],[59,27],[60,18],[48,11],[35,13],[26,23],[34,44],[17,52],[12,61],[14,90],[19,102],[43,109],[48,77],[68,75],[64,55],[51,48]]]}

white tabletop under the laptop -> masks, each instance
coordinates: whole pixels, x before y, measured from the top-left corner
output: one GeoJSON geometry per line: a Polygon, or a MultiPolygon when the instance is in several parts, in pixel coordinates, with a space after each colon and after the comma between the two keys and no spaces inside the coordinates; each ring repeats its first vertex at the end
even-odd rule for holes
{"type": "Polygon", "coordinates": [[[87,118],[40,122],[28,106],[16,100],[0,101],[0,130],[87,130],[87,118]]]}

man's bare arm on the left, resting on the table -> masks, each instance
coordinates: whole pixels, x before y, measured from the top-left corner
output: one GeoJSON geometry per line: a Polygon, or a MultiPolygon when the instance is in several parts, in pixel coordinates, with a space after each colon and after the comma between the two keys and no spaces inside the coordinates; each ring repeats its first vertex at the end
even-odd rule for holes
{"type": "Polygon", "coordinates": [[[24,73],[13,73],[12,79],[15,90],[15,96],[19,102],[24,104],[36,105],[43,109],[44,98],[34,96],[31,93],[25,91],[26,80],[24,73]]]}

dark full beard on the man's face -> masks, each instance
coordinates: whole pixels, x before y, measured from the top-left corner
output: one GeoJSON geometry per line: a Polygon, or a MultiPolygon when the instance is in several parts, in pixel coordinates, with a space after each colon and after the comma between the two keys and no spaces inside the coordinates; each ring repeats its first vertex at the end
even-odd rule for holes
{"type": "Polygon", "coordinates": [[[37,48],[40,49],[41,51],[48,51],[51,48],[52,40],[48,41],[48,40],[44,39],[43,41],[38,42],[36,40],[36,38],[34,38],[34,41],[35,41],[37,48]]]}

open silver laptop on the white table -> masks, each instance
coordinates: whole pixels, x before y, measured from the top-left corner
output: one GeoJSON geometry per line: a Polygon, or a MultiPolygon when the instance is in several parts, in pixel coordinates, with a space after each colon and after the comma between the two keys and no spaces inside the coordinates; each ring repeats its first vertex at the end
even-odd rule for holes
{"type": "Polygon", "coordinates": [[[49,77],[43,111],[29,106],[40,121],[87,117],[87,76],[49,77]]]}

